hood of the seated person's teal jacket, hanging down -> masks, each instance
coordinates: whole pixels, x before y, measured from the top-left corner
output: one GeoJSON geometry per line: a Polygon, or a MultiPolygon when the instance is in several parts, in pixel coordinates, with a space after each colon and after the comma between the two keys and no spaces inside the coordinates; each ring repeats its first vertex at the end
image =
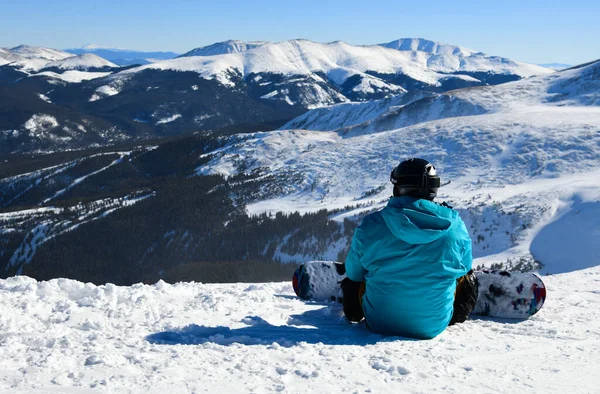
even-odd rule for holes
{"type": "Polygon", "coordinates": [[[381,216],[396,238],[411,245],[441,238],[459,217],[450,208],[407,196],[392,197],[381,216]]]}

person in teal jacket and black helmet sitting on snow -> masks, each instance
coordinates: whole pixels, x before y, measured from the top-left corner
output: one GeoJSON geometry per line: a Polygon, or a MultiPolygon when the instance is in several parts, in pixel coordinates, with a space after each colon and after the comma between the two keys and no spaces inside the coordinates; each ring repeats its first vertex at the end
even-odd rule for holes
{"type": "Polygon", "coordinates": [[[458,212],[433,201],[440,178],[427,160],[401,162],[390,180],[394,196],[354,233],[344,314],[376,333],[433,338],[475,307],[471,238],[458,212]]]}

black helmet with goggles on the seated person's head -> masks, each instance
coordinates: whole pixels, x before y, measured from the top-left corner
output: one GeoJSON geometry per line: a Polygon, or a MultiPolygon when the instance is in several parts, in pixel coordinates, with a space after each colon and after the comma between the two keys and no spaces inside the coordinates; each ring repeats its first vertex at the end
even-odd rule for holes
{"type": "Polygon", "coordinates": [[[440,187],[433,164],[424,159],[408,159],[392,170],[390,181],[394,184],[394,197],[410,196],[433,200],[440,187]]]}

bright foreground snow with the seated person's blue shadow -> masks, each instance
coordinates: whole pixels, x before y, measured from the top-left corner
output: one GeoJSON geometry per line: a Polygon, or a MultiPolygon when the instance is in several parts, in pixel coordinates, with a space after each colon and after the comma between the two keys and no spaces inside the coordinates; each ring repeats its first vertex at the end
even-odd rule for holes
{"type": "Polygon", "coordinates": [[[0,392],[597,393],[600,267],[546,276],[528,321],[429,341],[351,325],[290,284],[0,280],[0,392]]]}

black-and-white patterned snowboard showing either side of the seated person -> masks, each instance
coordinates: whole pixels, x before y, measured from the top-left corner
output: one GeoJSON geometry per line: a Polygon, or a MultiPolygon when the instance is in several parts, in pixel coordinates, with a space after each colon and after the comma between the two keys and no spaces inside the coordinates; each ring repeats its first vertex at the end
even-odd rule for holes
{"type": "MultiPolygon", "coordinates": [[[[503,319],[527,319],[544,305],[546,287],[532,272],[475,271],[479,282],[477,304],[471,315],[503,319]]],[[[292,279],[294,292],[303,300],[342,302],[340,282],[346,278],[344,264],[334,261],[304,263],[292,279]]]]}

